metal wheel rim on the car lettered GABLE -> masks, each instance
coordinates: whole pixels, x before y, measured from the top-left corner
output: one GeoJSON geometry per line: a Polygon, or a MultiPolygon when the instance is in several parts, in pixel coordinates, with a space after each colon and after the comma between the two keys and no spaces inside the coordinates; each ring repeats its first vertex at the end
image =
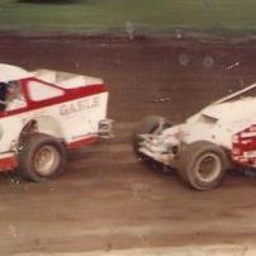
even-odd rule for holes
{"type": "Polygon", "coordinates": [[[59,167],[61,156],[51,145],[40,147],[34,156],[35,171],[41,176],[51,175],[59,167]]]}

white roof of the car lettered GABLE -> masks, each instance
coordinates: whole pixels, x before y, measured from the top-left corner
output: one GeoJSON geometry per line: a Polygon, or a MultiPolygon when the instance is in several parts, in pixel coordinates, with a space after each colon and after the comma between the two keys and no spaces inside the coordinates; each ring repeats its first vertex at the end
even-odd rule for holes
{"type": "Polygon", "coordinates": [[[0,82],[7,83],[31,76],[31,73],[21,67],[0,63],[0,82]]]}

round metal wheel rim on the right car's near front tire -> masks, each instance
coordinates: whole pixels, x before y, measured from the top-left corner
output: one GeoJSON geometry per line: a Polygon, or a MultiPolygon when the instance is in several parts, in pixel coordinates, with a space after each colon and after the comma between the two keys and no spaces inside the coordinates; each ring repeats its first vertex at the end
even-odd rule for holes
{"type": "Polygon", "coordinates": [[[221,173],[221,159],[215,153],[207,153],[197,159],[195,176],[199,181],[213,182],[221,173]]]}

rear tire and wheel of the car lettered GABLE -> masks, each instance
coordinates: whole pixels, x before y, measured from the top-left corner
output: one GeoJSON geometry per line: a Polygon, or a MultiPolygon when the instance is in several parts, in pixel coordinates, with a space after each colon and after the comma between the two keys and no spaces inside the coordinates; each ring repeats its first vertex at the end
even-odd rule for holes
{"type": "Polygon", "coordinates": [[[18,155],[19,171],[30,181],[40,182],[61,175],[66,164],[66,150],[61,141],[42,133],[23,138],[18,155]]]}

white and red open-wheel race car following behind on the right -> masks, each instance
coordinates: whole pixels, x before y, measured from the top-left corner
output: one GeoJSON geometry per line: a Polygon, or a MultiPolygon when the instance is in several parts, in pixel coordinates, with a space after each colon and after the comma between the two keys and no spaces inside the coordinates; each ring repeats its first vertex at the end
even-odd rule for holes
{"type": "Polygon", "coordinates": [[[133,138],[136,155],[173,169],[193,188],[212,189],[233,167],[256,168],[256,84],[205,107],[181,125],[145,117],[133,138]]]}

